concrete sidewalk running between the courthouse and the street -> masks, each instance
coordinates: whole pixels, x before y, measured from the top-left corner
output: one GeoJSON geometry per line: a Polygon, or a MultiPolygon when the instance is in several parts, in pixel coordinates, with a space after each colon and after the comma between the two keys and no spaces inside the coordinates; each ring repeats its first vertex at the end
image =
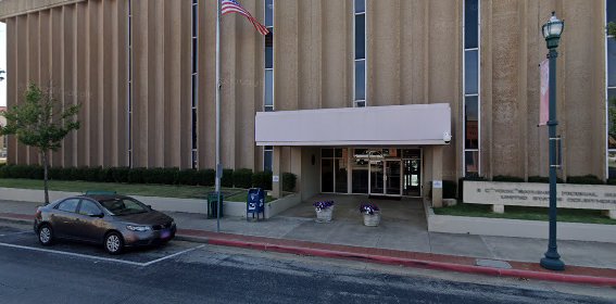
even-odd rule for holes
{"type": "MultiPolygon", "coordinates": [[[[29,224],[37,205],[0,201],[0,219],[29,224]]],[[[545,240],[432,233],[395,221],[376,228],[343,218],[331,224],[317,224],[310,218],[292,216],[277,216],[265,221],[225,217],[221,219],[222,232],[218,233],[215,232],[215,219],[206,219],[199,214],[169,215],[178,225],[178,238],[216,245],[492,276],[616,286],[616,244],[611,243],[558,241],[558,252],[567,267],[565,271],[550,271],[538,264],[546,249],[545,240]],[[478,262],[493,264],[493,261],[506,262],[511,268],[477,266],[478,262]]]]}

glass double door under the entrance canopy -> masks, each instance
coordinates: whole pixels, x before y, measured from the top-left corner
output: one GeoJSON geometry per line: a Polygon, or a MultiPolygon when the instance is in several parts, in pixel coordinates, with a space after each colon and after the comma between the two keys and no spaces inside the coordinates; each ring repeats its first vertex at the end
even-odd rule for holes
{"type": "Polygon", "coordinates": [[[402,161],[370,161],[370,194],[402,195],[402,161]]]}

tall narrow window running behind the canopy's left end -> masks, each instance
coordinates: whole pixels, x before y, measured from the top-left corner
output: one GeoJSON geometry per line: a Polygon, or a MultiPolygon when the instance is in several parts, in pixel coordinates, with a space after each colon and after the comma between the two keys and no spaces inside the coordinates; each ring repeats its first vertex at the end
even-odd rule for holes
{"type": "MultiPolygon", "coordinates": [[[[274,0],[264,0],[265,27],[269,33],[265,36],[264,59],[264,83],[263,83],[263,110],[274,111],[274,0]]],[[[263,149],[263,169],[272,170],[274,149],[267,145],[263,149]]]]}

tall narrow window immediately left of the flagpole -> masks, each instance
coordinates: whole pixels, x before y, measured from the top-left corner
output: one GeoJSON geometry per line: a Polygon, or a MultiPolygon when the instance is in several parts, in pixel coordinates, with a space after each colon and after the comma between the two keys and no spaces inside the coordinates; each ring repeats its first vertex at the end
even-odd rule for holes
{"type": "Polygon", "coordinates": [[[191,71],[191,166],[192,168],[197,168],[198,163],[198,155],[197,155],[197,104],[198,104],[198,92],[199,92],[199,81],[198,81],[198,72],[199,72],[199,1],[192,0],[192,71],[191,71]]]}

